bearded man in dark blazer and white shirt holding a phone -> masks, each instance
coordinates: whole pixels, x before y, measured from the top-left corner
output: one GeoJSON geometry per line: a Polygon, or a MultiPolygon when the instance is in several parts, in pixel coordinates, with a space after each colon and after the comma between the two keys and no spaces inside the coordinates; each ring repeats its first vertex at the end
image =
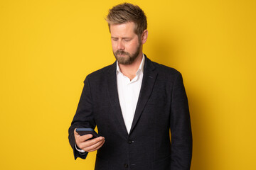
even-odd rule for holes
{"type": "Polygon", "coordinates": [[[181,74],[142,53],[148,31],[139,6],[114,6],[107,22],[117,61],[84,81],[69,128],[75,159],[97,150],[96,170],[190,169],[191,123],[181,74]],[[75,132],[96,125],[95,139],[75,132]]]}

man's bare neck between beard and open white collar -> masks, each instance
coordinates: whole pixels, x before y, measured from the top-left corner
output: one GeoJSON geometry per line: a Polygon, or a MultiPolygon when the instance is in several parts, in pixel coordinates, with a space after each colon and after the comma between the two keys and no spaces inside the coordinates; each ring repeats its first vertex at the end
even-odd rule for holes
{"type": "Polygon", "coordinates": [[[130,80],[132,80],[134,77],[136,77],[136,73],[139,69],[139,65],[142,62],[142,57],[143,53],[140,52],[139,56],[137,57],[132,64],[124,65],[124,64],[119,64],[120,71],[124,76],[128,77],[130,80]]]}

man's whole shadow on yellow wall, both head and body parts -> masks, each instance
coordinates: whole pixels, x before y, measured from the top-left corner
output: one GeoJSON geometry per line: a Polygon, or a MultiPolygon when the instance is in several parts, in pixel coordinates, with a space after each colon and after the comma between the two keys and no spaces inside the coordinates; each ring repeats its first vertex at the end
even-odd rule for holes
{"type": "MultiPolygon", "coordinates": [[[[186,47],[188,45],[183,43],[182,38],[171,37],[166,35],[155,35],[154,42],[150,44],[151,49],[146,49],[149,51],[149,58],[160,64],[164,64],[169,67],[174,67],[181,71],[183,77],[185,77],[182,70],[182,64],[187,60],[188,51],[186,47]],[[186,52],[183,52],[186,51],[186,52]]],[[[192,74],[193,75],[193,74],[192,74]]],[[[186,80],[186,93],[188,96],[188,104],[191,114],[191,126],[193,133],[193,157],[192,157],[192,170],[205,170],[211,169],[213,161],[211,160],[211,154],[214,152],[214,146],[210,147],[211,134],[213,133],[213,126],[210,125],[208,114],[209,106],[206,103],[206,96],[202,94],[207,94],[200,89],[200,86],[196,82],[188,82],[186,80]],[[189,86],[188,84],[193,84],[189,86]]]]}

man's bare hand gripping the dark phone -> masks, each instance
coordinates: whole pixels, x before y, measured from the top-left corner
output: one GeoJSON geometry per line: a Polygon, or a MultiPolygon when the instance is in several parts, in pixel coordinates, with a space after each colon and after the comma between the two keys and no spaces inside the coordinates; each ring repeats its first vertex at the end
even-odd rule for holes
{"type": "Polygon", "coordinates": [[[75,130],[75,144],[85,152],[92,152],[97,149],[100,149],[100,147],[102,147],[102,145],[105,142],[104,137],[97,137],[95,139],[90,140],[90,138],[92,138],[92,134],[80,136],[78,132],[76,132],[75,130]]]}

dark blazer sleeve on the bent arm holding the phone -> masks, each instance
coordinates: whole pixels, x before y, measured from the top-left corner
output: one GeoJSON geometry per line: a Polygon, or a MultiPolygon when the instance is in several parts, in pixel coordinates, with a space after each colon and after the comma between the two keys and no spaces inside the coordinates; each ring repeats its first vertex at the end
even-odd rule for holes
{"type": "Polygon", "coordinates": [[[95,128],[96,125],[95,120],[93,118],[92,103],[93,102],[90,91],[90,82],[89,78],[86,77],[80,101],[78,103],[78,109],[75,113],[71,126],[68,129],[68,140],[70,142],[71,147],[73,148],[75,159],[77,159],[78,157],[85,159],[87,157],[87,152],[81,153],[78,152],[77,149],[75,149],[74,130],[75,128],[95,128]]]}

